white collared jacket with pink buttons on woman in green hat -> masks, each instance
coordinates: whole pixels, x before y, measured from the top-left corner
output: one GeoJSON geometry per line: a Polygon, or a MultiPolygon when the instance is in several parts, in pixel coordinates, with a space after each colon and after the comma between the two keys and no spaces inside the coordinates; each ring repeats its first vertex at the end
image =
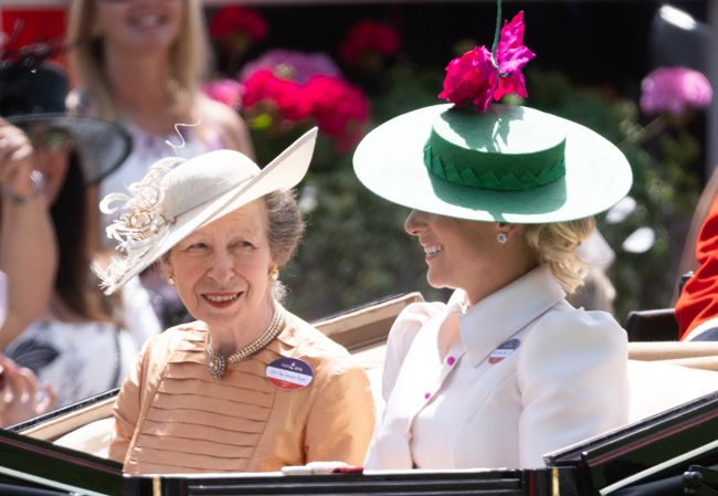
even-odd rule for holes
{"type": "Polygon", "coordinates": [[[468,309],[462,292],[406,307],[389,335],[387,408],[365,466],[538,467],[625,424],[626,334],[564,296],[540,266],[468,309]]]}

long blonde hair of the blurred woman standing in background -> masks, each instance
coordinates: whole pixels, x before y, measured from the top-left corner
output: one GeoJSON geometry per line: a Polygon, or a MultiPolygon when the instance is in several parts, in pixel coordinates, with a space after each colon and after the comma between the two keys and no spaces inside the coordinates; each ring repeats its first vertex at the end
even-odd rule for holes
{"type": "MultiPolygon", "coordinates": [[[[117,120],[118,113],[104,72],[103,39],[94,29],[97,0],[72,0],[67,45],[74,83],[86,92],[92,114],[117,120]]],[[[178,116],[192,118],[199,85],[207,74],[211,51],[200,0],[183,0],[179,35],[170,49],[168,92],[178,116]]]]}

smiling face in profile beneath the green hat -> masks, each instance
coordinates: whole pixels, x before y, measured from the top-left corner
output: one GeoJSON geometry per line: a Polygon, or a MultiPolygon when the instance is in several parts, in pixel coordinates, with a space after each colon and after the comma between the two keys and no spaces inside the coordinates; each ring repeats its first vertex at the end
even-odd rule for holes
{"type": "Polygon", "coordinates": [[[461,288],[476,303],[536,265],[524,238],[524,228],[478,222],[413,210],[406,232],[424,249],[426,281],[433,287],[461,288]],[[497,241],[506,232],[508,242],[497,241]]]}

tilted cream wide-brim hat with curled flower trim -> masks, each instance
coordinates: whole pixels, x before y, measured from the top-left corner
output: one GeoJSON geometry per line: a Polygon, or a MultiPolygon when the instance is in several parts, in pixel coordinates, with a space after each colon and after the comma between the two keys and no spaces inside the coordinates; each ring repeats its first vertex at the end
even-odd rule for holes
{"type": "Polygon", "coordinates": [[[130,186],[131,196],[107,196],[101,209],[119,212],[107,235],[119,241],[117,250],[125,255],[107,268],[95,266],[105,293],[114,293],[196,230],[267,193],[298,184],[309,168],[316,138],[313,128],[263,169],[234,150],[209,151],[184,161],[162,159],[130,186]],[[124,204],[110,208],[116,201],[124,204]]]}

